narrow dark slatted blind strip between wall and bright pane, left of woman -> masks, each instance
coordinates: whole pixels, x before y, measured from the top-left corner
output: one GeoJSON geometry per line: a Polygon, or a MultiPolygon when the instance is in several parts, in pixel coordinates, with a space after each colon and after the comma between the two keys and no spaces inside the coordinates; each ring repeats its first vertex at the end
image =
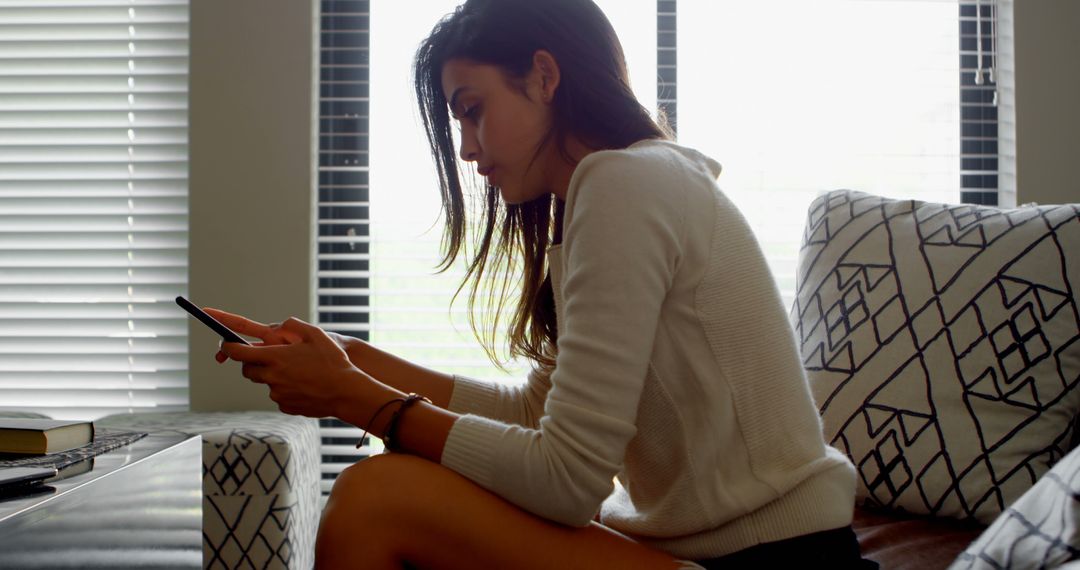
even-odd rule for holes
{"type": "MultiPolygon", "coordinates": [[[[319,324],[370,338],[368,230],[368,0],[323,0],[319,82],[319,324]]],[[[320,420],[322,491],[372,453],[361,431],[320,420]]],[[[378,442],[370,439],[378,446],[378,442]]]]}

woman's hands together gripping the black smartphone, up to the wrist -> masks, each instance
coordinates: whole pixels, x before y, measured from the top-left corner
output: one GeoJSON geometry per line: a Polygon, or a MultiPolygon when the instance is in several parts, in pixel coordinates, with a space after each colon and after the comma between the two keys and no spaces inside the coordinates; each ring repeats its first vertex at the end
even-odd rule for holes
{"type": "Polygon", "coordinates": [[[219,354],[242,362],[244,377],[267,384],[270,399],[285,413],[337,416],[337,407],[356,381],[375,381],[349,362],[326,331],[299,318],[262,325],[222,311],[211,314],[237,332],[264,340],[255,347],[226,342],[219,354]]]}

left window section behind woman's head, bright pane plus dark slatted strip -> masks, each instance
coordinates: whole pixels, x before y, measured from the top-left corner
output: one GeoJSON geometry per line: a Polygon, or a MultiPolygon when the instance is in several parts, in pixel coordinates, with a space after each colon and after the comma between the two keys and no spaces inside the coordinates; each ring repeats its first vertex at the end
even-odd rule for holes
{"type": "MultiPolygon", "coordinates": [[[[525,365],[496,368],[473,338],[465,301],[450,306],[461,264],[434,273],[441,206],[411,60],[458,3],[322,2],[319,324],[444,371],[509,380],[523,378],[525,365]]],[[[644,39],[626,57],[635,90],[654,106],[654,0],[598,3],[620,33],[644,39]]],[[[381,449],[374,439],[355,449],[362,432],[338,420],[323,420],[322,433],[324,492],[342,469],[381,449]]]]}

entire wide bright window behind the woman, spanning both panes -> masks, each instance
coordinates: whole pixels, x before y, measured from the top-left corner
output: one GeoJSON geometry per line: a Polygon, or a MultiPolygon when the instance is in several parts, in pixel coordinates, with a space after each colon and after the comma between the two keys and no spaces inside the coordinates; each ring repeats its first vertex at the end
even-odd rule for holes
{"type": "MultiPolygon", "coordinates": [[[[460,268],[433,273],[440,204],[411,57],[457,3],[323,1],[320,323],[442,370],[507,380],[525,366],[500,372],[464,302],[450,308],[460,268]]],[[[960,198],[958,49],[971,49],[971,9],[958,26],[944,0],[597,3],[624,39],[643,103],[664,110],[680,142],[725,164],[721,187],[751,219],[788,302],[819,192],[960,198]]],[[[359,436],[324,421],[324,490],[378,450],[357,452],[359,436]]]]}

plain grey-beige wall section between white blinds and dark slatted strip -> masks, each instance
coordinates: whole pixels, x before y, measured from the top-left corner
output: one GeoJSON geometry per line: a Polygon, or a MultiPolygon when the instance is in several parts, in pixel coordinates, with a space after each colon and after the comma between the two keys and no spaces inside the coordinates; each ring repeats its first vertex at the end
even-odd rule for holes
{"type": "MultiPolygon", "coordinates": [[[[318,0],[191,0],[190,298],[314,313],[318,0]]],[[[189,322],[191,409],[276,409],[189,322]]]]}

